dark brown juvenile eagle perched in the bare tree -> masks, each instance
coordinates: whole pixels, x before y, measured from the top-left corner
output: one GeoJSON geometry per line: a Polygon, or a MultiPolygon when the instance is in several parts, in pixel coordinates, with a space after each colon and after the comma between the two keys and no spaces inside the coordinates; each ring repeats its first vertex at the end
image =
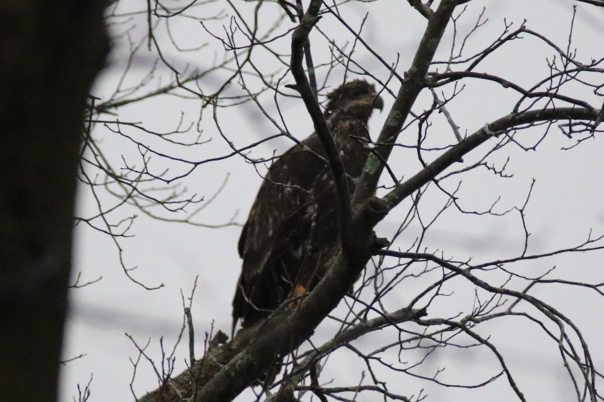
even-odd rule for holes
{"type": "MultiPolygon", "coordinates": [[[[350,81],[327,95],[324,116],[344,169],[359,177],[369,149],[367,120],[384,101],[375,87],[350,81]]],[[[281,303],[310,291],[339,242],[336,190],[316,133],[269,168],[239,239],[243,268],[233,299],[233,328],[250,327],[281,303]]],[[[350,191],[354,190],[350,180],[350,191]]]]}

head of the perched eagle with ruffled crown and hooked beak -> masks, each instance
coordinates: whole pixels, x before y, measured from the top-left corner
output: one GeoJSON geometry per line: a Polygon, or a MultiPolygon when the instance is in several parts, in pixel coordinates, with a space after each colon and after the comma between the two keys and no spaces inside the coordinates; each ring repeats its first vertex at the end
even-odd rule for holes
{"type": "Polygon", "coordinates": [[[373,84],[365,80],[353,80],[342,84],[327,95],[324,115],[329,117],[335,111],[357,119],[368,119],[373,109],[382,110],[384,99],[377,95],[373,84]]]}

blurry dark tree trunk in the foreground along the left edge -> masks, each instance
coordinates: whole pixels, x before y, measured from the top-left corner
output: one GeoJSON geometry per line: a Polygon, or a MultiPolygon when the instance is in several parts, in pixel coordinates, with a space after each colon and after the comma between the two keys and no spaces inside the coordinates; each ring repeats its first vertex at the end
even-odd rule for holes
{"type": "Polygon", "coordinates": [[[0,389],[53,401],[86,96],[108,39],[100,0],[0,0],[0,389]]]}

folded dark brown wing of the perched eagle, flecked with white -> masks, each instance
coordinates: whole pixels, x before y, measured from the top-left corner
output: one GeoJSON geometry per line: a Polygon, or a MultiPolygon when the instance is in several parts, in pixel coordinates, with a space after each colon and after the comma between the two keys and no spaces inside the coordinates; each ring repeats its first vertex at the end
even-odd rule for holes
{"type": "Polygon", "coordinates": [[[297,270],[290,261],[301,254],[304,233],[312,225],[312,186],[326,169],[320,157],[300,145],[269,169],[239,239],[243,267],[233,300],[234,321],[243,318],[243,325],[252,324],[288,296],[297,270]]]}

